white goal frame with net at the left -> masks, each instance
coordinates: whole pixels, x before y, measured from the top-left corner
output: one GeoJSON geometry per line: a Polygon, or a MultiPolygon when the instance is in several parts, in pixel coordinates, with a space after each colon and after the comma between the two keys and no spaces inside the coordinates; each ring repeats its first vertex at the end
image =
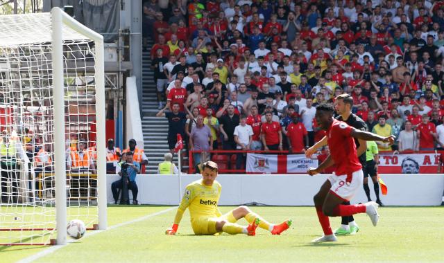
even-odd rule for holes
{"type": "Polygon", "coordinates": [[[0,28],[0,245],[105,228],[102,37],[59,8],[0,28]]]}

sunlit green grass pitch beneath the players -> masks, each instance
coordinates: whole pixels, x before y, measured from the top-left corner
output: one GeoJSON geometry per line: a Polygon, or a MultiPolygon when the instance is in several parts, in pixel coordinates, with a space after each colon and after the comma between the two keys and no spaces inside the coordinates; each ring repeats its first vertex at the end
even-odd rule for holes
{"type": "MultiPolygon", "coordinates": [[[[168,207],[112,206],[110,226],[146,216],[168,207]]],[[[228,212],[231,207],[222,207],[228,212]]],[[[259,229],[246,235],[195,236],[188,214],[178,235],[167,236],[171,210],[135,224],[84,237],[37,262],[439,262],[443,261],[444,208],[381,208],[381,219],[373,227],[365,214],[355,216],[361,227],[355,236],[339,242],[310,244],[322,233],[312,207],[252,207],[271,222],[293,218],[293,226],[281,236],[259,229]]],[[[331,219],[332,228],[340,218],[331,219]]],[[[246,225],[241,219],[240,224],[246,225]]],[[[1,233],[0,233],[1,235],[1,233]]],[[[1,262],[15,262],[42,251],[42,247],[0,247],[1,262]]]]}

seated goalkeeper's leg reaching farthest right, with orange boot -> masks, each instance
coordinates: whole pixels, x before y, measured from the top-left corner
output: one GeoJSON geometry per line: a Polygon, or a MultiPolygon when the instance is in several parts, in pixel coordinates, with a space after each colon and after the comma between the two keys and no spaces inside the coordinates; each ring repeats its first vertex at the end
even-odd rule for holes
{"type": "Polygon", "coordinates": [[[255,212],[250,210],[248,206],[239,206],[238,208],[234,208],[232,210],[231,214],[228,215],[228,221],[230,221],[230,217],[232,215],[232,218],[238,220],[244,217],[248,223],[253,223],[255,219],[259,219],[259,228],[263,228],[265,230],[270,231],[273,235],[280,235],[280,233],[284,232],[284,230],[287,230],[291,224],[291,219],[287,219],[286,221],[282,222],[281,224],[275,225],[270,224],[268,221],[266,221],[264,218],[257,215],[255,212]]]}

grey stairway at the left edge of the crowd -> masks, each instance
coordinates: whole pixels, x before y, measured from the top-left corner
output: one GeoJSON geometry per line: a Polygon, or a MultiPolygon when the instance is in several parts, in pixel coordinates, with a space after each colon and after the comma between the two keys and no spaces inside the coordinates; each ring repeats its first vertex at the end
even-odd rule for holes
{"type": "MultiPolygon", "coordinates": [[[[159,111],[157,102],[154,73],[151,69],[151,46],[153,41],[148,41],[148,48],[142,52],[142,130],[144,133],[144,151],[148,157],[146,173],[157,173],[157,165],[164,161],[164,154],[169,152],[168,147],[168,120],[157,118],[159,111]]],[[[177,163],[177,155],[174,154],[174,163],[177,163]]],[[[188,158],[183,158],[182,170],[188,168],[188,158]]]]}

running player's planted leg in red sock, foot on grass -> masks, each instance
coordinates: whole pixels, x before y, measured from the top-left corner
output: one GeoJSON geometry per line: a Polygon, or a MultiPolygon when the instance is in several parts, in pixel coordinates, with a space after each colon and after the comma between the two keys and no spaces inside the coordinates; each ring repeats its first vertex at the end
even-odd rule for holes
{"type": "Polygon", "coordinates": [[[325,183],[321,186],[321,189],[319,189],[319,192],[315,194],[313,198],[316,213],[318,214],[319,223],[321,224],[324,235],[312,240],[311,242],[334,242],[337,240],[332,231],[332,228],[330,227],[330,220],[323,212],[323,203],[325,202],[325,197],[327,196],[331,187],[332,184],[330,183],[330,181],[325,181],[325,183]]]}

